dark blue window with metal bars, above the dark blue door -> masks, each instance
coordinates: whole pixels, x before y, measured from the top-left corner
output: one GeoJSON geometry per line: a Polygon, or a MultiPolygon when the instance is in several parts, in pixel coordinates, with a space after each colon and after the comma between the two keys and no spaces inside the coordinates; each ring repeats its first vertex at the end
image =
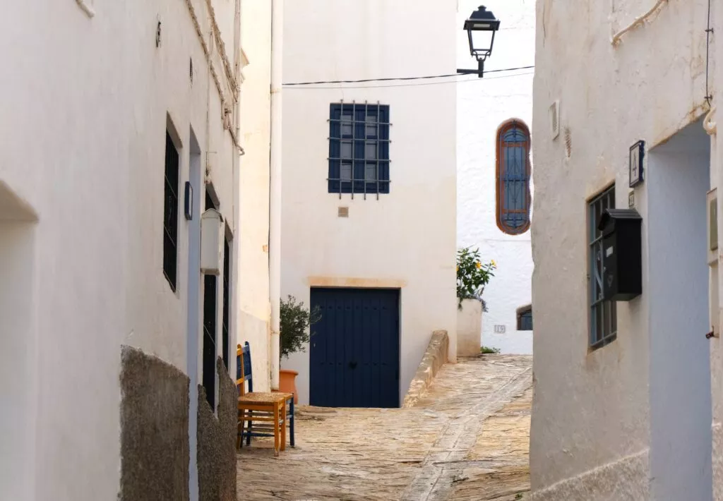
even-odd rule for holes
{"type": "Polygon", "coordinates": [[[389,193],[389,126],[389,106],[330,106],[329,193],[389,193]]]}

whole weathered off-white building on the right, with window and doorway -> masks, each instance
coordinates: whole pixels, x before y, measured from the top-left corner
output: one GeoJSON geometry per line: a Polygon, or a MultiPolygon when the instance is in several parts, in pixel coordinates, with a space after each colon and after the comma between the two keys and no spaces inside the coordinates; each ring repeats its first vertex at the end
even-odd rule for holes
{"type": "Polygon", "coordinates": [[[536,500],[723,499],[719,7],[537,1],[536,500]]]}

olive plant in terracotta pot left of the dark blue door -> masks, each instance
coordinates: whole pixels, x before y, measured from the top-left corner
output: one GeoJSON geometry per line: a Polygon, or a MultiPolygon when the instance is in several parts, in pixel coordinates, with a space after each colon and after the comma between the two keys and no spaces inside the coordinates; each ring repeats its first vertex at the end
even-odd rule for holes
{"type": "MultiPolygon", "coordinates": [[[[279,317],[280,359],[288,358],[296,351],[305,351],[312,336],[312,325],[321,320],[320,308],[315,307],[309,311],[304,307],[303,301],[297,303],[294,296],[288,296],[286,300],[281,300],[279,317]]],[[[299,393],[296,392],[298,374],[299,372],[292,370],[279,370],[279,391],[294,393],[294,403],[299,401],[299,393]]]]}

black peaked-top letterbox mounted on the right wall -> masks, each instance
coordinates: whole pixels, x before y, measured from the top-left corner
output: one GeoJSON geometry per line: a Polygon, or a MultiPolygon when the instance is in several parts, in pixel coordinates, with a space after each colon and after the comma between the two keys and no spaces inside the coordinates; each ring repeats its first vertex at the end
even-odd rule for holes
{"type": "Polygon", "coordinates": [[[600,216],[602,291],[609,301],[630,301],[643,293],[642,222],[635,209],[608,209],[600,216]]]}

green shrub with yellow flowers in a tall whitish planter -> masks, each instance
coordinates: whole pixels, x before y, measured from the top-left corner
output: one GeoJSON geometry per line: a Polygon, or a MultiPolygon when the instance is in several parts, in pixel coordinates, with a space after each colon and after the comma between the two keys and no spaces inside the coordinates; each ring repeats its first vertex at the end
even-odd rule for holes
{"type": "Polygon", "coordinates": [[[495,260],[484,264],[479,249],[471,247],[457,252],[457,354],[474,356],[482,347],[482,312],[487,304],[482,299],[484,287],[495,276],[495,260]]]}

